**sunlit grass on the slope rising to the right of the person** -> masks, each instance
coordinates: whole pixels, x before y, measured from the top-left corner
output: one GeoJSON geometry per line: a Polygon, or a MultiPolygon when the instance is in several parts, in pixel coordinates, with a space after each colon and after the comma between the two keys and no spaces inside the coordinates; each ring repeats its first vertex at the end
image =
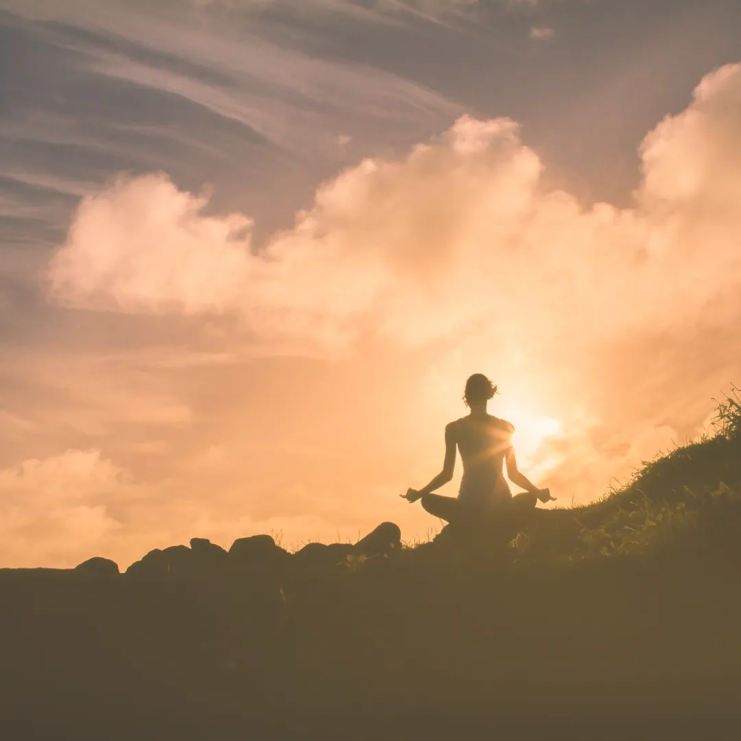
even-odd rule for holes
{"type": "Polygon", "coordinates": [[[598,502],[543,517],[511,544],[513,559],[568,563],[697,548],[711,536],[708,517],[722,511],[733,519],[740,506],[741,403],[734,387],[708,433],[644,462],[598,502]]]}

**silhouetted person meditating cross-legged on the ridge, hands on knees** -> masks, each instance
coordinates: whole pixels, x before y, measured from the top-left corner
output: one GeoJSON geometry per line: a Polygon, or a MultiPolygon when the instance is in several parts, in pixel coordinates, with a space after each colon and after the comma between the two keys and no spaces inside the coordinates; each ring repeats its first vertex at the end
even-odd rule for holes
{"type": "Polygon", "coordinates": [[[496,386],[482,373],[474,373],[465,385],[463,401],[471,412],[456,419],[445,428],[445,462],[442,471],[422,489],[409,489],[403,499],[416,502],[430,514],[456,522],[460,519],[478,519],[488,512],[526,511],[535,508],[538,500],[550,502],[554,497],[548,489],[539,489],[517,469],[512,448],[514,426],[487,411],[489,399],[494,398],[496,386]],[[463,462],[463,479],[457,497],[440,496],[433,491],[453,478],[456,448],[463,462]],[[502,473],[512,483],[525,489],[512,496],[502,473]]]}

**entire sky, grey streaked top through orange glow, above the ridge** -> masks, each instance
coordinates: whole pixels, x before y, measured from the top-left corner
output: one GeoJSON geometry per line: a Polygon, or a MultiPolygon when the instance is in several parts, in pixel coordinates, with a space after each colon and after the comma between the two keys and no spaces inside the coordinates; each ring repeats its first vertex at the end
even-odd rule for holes
{"type": "Polygon", "coordinates": [[[0,566],[425,539],[475,372],[594,501],[740,383],[740,200],[736,1],[0,0],[0,566]]]}

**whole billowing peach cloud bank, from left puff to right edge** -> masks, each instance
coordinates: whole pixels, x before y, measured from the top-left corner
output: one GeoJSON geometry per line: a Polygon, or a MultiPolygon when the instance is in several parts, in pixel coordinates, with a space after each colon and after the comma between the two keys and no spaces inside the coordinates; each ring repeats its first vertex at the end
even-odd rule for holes
{"type": "Polygon", "coordinates": [[[207,215],[205,196],[165,175],[119,179],[82,201],[51,290],[84,308],[233,312],[255,331],[373,328],[413,344],[482,321],[615,339],[713,321],[739,274],[740,91],[741,68],[725,67],[646,137],[638,205],[622,210],[544,192],[517,124],[469,116],[406,159],[368,159],[322,185],[259,253],[247,216],[207,215]],[[505,310],[523,285],[528,301],[505,310]]]}

